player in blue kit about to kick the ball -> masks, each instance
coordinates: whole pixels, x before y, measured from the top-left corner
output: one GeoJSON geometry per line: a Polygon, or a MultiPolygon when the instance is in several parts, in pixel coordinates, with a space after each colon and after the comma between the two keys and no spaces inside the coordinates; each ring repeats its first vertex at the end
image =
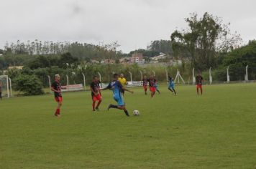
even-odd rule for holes
{"type": "Polygon", "coordinates": [[[127,90],[122,86],[122,84],[118,81],[118,74],[113,75],[113,81],[109,83],[109,85],[104,88],[103,90],[112,90],[113,91],[113,98],[117,102],[117,105],[109,105],[108,110],[110,108],[124,110],[125,115],[129,116],[129,113],[124,105],[124,100],[121,95],[122,90],[126,90],[127,92],[133,93],[131,90],[127,90]]]}

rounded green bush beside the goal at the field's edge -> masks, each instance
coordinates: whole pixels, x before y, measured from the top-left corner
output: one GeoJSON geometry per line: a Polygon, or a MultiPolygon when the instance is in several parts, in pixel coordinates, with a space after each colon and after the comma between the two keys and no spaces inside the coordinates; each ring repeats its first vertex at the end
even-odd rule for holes
{"type": "Polygon", "coordinates": [[[34,74],[19,74],[14,79],[14,90],[24,92],[24,95],[42,95],[42,82],[34,74]]]}

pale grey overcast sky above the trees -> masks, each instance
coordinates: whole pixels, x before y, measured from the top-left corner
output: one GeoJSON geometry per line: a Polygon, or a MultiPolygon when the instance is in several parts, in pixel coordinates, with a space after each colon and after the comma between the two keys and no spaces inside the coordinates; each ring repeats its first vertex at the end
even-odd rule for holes
{"type": "Polygon", "coordinates": [[[184,19],[209,12],[231,23],[243,43],[256,39],[255,0],[1,0],[0,49],[6,42],[39,39],[109,44],[122,52],[146,49],[186,29],[184,19]]]}

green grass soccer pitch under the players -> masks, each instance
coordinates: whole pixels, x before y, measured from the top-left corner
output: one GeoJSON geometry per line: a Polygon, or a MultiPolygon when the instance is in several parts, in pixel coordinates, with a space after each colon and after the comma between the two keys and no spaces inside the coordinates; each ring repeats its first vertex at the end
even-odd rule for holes
{"type": "Polygon", "coordinates": [[[61,118],[52,95],[0,102],[0,168],[256,168],[256,84],[160,86],[154,99],[135,88],[127,109],[104,91],[101,111],[90,92],[63,94],[61,118]]]}

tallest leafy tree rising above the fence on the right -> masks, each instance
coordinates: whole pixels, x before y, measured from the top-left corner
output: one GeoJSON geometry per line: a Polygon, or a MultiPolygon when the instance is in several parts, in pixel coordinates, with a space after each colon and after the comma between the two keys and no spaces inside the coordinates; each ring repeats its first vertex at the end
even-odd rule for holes
{"type": "Polygon", "coordinates": [[[230,33],[229,24],[222,24],[219,17],[207,12],[200,19],[193,13],[185,21],[189,29],[175,30],[170,38],[175,55],[191,57],[197,69],[216,67],[219,53],[230,52],[241,42],[239,34],[230,33]]]}

